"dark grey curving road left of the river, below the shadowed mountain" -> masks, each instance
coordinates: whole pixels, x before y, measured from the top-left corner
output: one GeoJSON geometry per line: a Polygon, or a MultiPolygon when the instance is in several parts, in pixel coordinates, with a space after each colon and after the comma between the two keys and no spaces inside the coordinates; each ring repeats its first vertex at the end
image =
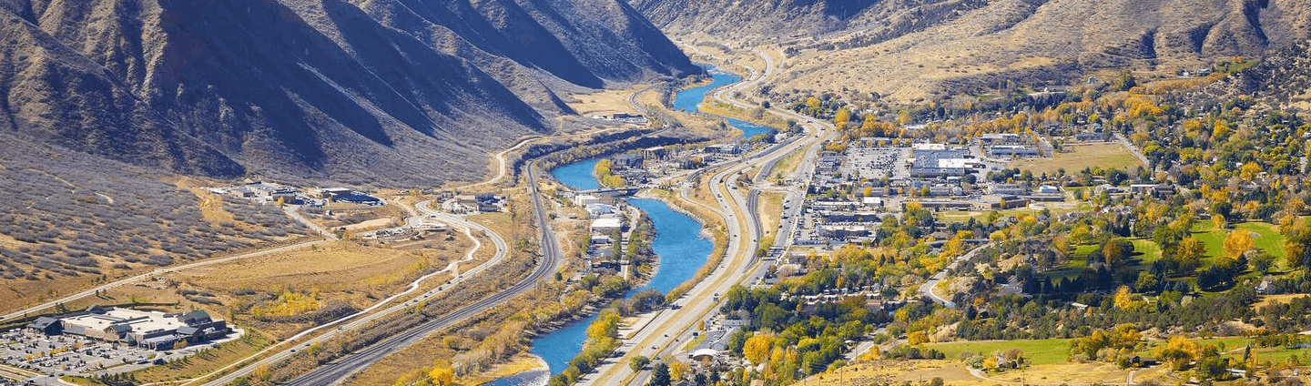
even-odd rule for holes
{"type": "MultiPolygon", "coordinates": [[[[350,377],[351,374],[354,374],[355,372],[359,372],[361,369],[364,369],[364,368],[367,368],[367,366],[378,362],[379,360],[382,360],[383,357],[385,357],[385,356],[388,356],[388,354],[391,354],[393,352],[401,351],[401,349],[404,349],[404,348],[406,348],[409,345],[413,345],[413,344],[421,341],[429,333],[433,333],[435,331],[440,331],[440,330],[448,328],[448,327],[451,327],[454,324],[458,324],[460,322],[464,322],[464,320],[467,320],[469,318],[473,318],[473,316],[476,316],[479,314],[482,314],[482,311],[486,311],[488,309],[496,307],[496,306],[501,305],[502,302],[509,301],[510,298],[514,298],[514,297],[517,297],[517,295],[519,295],[522,293],[526,293],[526,291],[531,290],[534,286],[538,285],[539,280],[545,280],[549,274],[555,273],[556,269],[557,269],[558,263],[561,261],[562,252],[560,249],[560,244],[558,244],[558,240],[555,236],[555,232],[551,230],[551,223],[547,222],[547,211],[541,206],[541,197],[540,197],[540,194],[538,192],[535,165],[530,164],[528,168],[527,168],[527,171],[528,171],[527,172],[527,176],[528,176],[528,194],[532,197],[532,206],[534,206],[534,209],[536,211],[535,219],[538,222],[538,227],[539,227],[539,231],[540,231],[539,236],[541,238],[541,251],[543,251],[543,256],[541,256],[541,259],[538,260],[538,267],[532,270],[532,273],[530,273],[527,277],[524,277],[523,280],[520,280],[515,285],[513,285],[513,286],[510,286],[510,288],[507,288],[505,290],[501,290],[501,291],[498,291],[498,293],[496,293],[496,294],[493,294],[490,297],[486,297],[486,298],[484,298],[481,301],[477,301],[477,302],[475,302],[472,305],[467,305],[467,306],[464,306],[464,307],[461,307],[461,309],[459,309],[459,310],[456,310],[454,312],[450,312],[450,314],[442,315],[439,318],[435,318],[433,320],[429,320],[429,322],[426,322],[426,323],[423,323],[423,324],[421,324],[418,327],[410,328],[410,330],[408,330],[405,332],[401,332],[401,333],[393,335],[391,337],[387,337],[387,339],[384,339],[384,340],[382,340],[379,343],[375,343],[375,344],[372,344],[372,345],[370,345],[370,347],[367,347],[364,349],[361,349],[358,352],[350,353],[350,354],[347,354],[345,357],[341,357],[341,358],[333,361],[333,362],[321,365],[317,369],[315,369],[315,370],[312,370],[312,372],[309,372],[309,373],[307,373],[307,374],[304,374],[304,375],[302,375],[302,377],[299,377],[296,379],[292,379],[291,382],[287,382],[284,385],[305,385],[305,386],[311,386],[311,385],[313,385],[313,386],[317,386],[317,385],[338,385],[342,381],[345,381],[347,377],[350,377]]],[[[427,204],[427,202],[423,202],[423,204],[427,204]]],[[[439,217],[440,215],[447,215],[447,214],[440,214],[440,213],[437,213],[437,211],[431,211],[431,209],[429,209],[427,205],[421,205],[418,207],[420,207],[421,211],[425,211],[427,215],[439,215],[439,217]]],[[[475,225],[475,223],[468,222],[468,225],[475,225]]],[[[494,232],[492,232],[490,230],[486,230],[485,227],[484,227],[484,232],[486,232],[489,235],[494,235],[494,232]]],[[[499,236],[497,236],[497,239],[499,239],[499,236]]],[[[472,272],[472,270],[471,272],[465,272],[464,274],[461,274],[461,277],[471,277],[476,272],[472,272]]],[[[219,385],[219,383],[215,383],[215,385],[219,385]]]]}

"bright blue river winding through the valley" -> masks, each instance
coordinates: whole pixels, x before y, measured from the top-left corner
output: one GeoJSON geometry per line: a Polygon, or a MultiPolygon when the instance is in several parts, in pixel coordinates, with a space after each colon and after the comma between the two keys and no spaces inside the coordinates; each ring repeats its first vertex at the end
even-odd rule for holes
{"type": "MultiPolygon", "coordinates": [[[[711,84],[690,88],[675,95],[674,109],[699,112],[696,106],[701,104],[707,93],[726,84],[742,80],[741,76],[717,71],[713,67],[707,67],[707,70],[712,75],[711,84]]],[[[750,138],[770,131],[770,127],[751,122],[733,118],[725,119],[728,119],[729,125],[742,130],[741,138],[750,138]]],[[[589,159],[558,167],[551,171],[551,175],[560,182],[576,190],[597,189],[600,188],[600,182],[597,181],[597,176],[593,175],[593,172],[597,168],[598,160],[599,159],[589,159]]],[[[629,205],[641,209],[652,219],[652,223],[656,227],[656,240],[652,242],[652,249],[659,256],[659,269],[657,269],[656,276],[652,277],[650,282],[648,282],[644,288],[629,291],[627,295],[632,295],[633,293],[646,289],[656,289],[662,293],[667,293],[684,281],[692,278],[692,276],[696,274],[696,270],[700,269],[701,265],[705,265],[707,257],[709,257],[711,252],[714,249],[714,243],[701,238],[700,222],[673,210],[669,205],[658,200],[629,198],[625,201],[629,205]]],[[[534,340],[531,353],[545,360],[549,372],[523,372],[484,383],[484,386],[545,385],[549,375],[564,372],[564,369],[569,365],[569,360],[573,360],[574,356],[582,352],[587,326],[595,319],[597,316],[593,315],[586,319],[569,323],[560,330],[534,340]]]]}

